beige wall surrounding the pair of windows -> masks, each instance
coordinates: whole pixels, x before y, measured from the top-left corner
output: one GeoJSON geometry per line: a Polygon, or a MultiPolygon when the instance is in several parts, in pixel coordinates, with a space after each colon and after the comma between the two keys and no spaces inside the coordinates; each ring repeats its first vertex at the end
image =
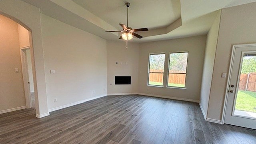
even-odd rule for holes
{"type": "Polygon", "coordinates": [[[205,44],[205,35],[140,44],[139,92],[198,101],[201,88],[205,44]],[[186,89],[166,88],[169,53],[182,51],[188,51],[186,89]],[[148,56],[150,53],[162,52],[166,53],[164,88],[147,86],[148,56]]]}

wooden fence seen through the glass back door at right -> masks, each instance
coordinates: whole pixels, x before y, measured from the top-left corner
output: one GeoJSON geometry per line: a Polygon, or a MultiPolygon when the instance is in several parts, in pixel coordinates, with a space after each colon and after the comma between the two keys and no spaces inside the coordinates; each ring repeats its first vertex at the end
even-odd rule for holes
{"type": "Polygon", "coordinates": [[[256,92],[256,72],[241,74],[238,90],[256,92]]]}

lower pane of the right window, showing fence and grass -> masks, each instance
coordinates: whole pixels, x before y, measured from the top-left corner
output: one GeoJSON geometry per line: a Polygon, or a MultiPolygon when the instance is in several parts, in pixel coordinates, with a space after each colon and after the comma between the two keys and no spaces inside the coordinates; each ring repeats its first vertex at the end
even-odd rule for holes
{"type": "Polygon", "coordinates": [[[185,88],[186,74],[169,74],[168,86],[185,88]]]}

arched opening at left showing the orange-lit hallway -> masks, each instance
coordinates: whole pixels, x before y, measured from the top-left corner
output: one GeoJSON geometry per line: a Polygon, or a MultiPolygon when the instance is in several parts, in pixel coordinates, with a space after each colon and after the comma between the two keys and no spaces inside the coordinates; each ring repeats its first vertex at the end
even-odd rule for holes
{"type": "Polygon", "coordinates": [[[0,14],[0,39],[0,114],[25,108],[36,110],[31,32],[0,14]]]}

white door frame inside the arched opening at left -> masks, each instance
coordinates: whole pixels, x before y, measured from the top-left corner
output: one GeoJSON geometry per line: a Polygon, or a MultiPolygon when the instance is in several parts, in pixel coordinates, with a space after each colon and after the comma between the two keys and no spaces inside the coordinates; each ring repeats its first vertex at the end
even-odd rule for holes
{"type": "Polygon", "coordinates": [[[30,86],[28,85],[29,76],[28,76],[28,62],[27,62],[27,56],[26,56],[26,50],[28,49],[30,49],[30,46],[20,48],[20,58],[21,58],[24,92],[25,92],[25,98],[26,98],[26,108],[32,108],[30,86]]]}

